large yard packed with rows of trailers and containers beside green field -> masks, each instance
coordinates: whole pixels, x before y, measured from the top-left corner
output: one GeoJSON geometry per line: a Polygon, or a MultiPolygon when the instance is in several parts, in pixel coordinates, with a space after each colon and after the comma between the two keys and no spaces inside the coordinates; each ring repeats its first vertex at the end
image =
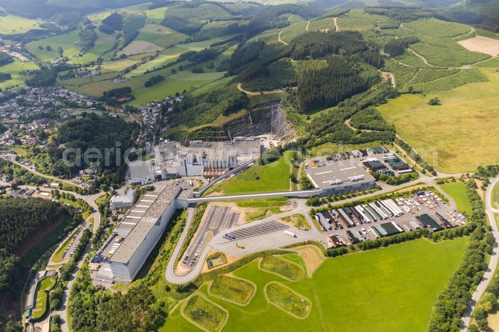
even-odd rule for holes
{"type": "Polygon", "coordinates": [[[352,207],[318,212],[315,219],[328,238],[329,247],[390,236],[418,228],[439,231],[465,224],[465,217],[433,192],[384,199],[352,207]]]}

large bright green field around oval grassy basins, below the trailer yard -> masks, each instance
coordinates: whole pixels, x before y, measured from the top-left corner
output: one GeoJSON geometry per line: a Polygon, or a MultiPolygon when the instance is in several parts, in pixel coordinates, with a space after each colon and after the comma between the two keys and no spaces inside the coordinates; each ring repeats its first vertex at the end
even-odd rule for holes
{"type": "MultiPolygon", "coordinates": [[[[224,300],[210,297],[207,286],[195,294],[204,294],[228,312],[222,331],[278,331],[282,322],[286,331],[423,331],[438,294],[458,267],[466,238],[431,243],[425,239],[388,248],[328,258],[313,273],[298,282],[287,282],[276,274],[258,269],[254,260],[233,272],[238,278],[256,285],[255,296],[241,310],[224,300]],[[434,269],[435,265],[440,269],[434,269]],[[355,276],[355,278],[352,278],[355,276]],[[334,282],[331,282],[334,277],[334,282]],[[308,316],[291,316],[265,297],[271,283],[285,287],[303,299],[311,300],[308,316]],[[411,287],[407,287],[410,283],[411,287]],[[327,285],[327,287],[325,287],[327,285]],[[345,287],[348,285],[348,287],[345,287]],[[404,294],[401,297],[400,294],[404,294]],[[331,298],[348,299],[331,301],[331,298]],[[362,317],[362,319],[359,319],[362,317]]],[[[283,257],[304,266],[296,254],[283,257]]],[[[173,310],[160,331],[192,331],[193,325],[173,310]]]]}

